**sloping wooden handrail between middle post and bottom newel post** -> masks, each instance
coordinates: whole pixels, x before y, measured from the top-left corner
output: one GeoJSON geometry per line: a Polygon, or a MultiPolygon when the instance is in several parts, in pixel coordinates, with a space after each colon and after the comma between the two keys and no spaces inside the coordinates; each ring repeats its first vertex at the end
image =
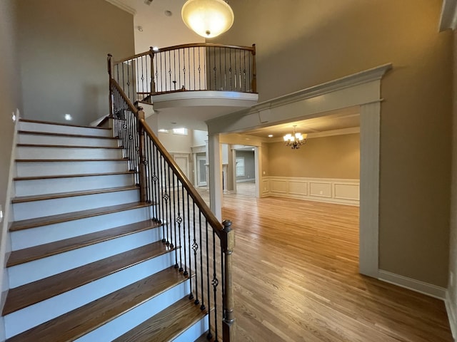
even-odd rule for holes
{"type": "Polygon", "coordinates": [[[189,192],[189,195],[191,195],[192,199],[194,199],[194,202],[196,202],[197,206],[201,208],[201,213],[204,214],[204,217],[206,217],[206,220],[208,220],[209,225],[214,228],[217,236],[221,238],[221,233],[224,231],[224,226],[221,224],[221,222],[219,222],[216,216],[214,216],[213,212],[211,212],[211,209],[209,209],[208,204],[206,204],[204,199],[201,198],[199,192],[195,190],[194,185],[191,185],[189,179],[181,171],[178,164],[176,164],[173,157],[171,157],[170,153],[165,149],[164,145],[162,145],[159,138],[156,137],[154,132],[146,123],[146,120],[140,119],[139,122],[143,126],[145,133],[149,135],[149,138],[151,138],[151,140],[154,141],[154,144],[157,145],[157,147],[161,151],[161,154],[164,156],[164,159],[166,160],[166,162],[169,163],[170,167],[174,170],[176,176],[179,178],[182,185],[186,188],[187,192],[189,192]]]}

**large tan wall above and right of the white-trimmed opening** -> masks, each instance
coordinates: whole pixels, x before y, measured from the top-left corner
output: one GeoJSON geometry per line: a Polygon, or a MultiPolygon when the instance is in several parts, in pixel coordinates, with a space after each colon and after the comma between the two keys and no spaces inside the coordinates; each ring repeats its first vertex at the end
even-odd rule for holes
{"type": "Polygon", "coordinates": [[[381,86],[379,267],[446,286],[452,33],[438,33],[441,2],[232,1],[235,23],[217,41],[256,43],[260,100],[393,63],[381,86]]]}

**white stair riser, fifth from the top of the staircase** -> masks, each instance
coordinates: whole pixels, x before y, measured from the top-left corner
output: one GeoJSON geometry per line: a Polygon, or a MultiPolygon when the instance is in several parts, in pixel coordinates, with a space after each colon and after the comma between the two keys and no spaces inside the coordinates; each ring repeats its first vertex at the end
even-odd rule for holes
{"type": "Polygon", "coordinates": [[[15,181],[16,196],[56,194],[59,192],[126,187],[134,184],[134,175],[104,175],[15,181]]]}

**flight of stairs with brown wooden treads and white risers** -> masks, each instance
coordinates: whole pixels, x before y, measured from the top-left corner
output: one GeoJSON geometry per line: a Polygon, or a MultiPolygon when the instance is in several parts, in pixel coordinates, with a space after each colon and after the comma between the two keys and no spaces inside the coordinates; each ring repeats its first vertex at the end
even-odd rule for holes
{"type": "Polygon", "coordinates": [[[181,246],[164,243],[166,222],[140,202],[113,131],[18,125],[6,341],[188,342],[208,331],[211,308],[189,300],[181,246]]]}

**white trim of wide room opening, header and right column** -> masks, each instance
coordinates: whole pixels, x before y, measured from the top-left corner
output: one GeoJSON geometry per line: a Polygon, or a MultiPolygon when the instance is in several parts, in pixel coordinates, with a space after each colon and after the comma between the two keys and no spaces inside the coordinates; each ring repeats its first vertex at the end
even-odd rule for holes
{"type": "MultiPolygon", "coordinates": [[[[258,103],[248,110],[208,120],[210,136],[219,133],[241,133],[246,130],[325,116],[332,110],[358,106],[361,117],[360,171],[360,262],[361,274],[378,278],[379,229],[379,148],[381,118],[381,78],[391,63],[354,73],[343,78],[312,86],[294,93],[258,103]]],[[[224,135],[221,135],[224,136],[224,135]]],[[[217,149],[213,149],[217,151],[217,149]]],[[[210,163],[219,154],[209,153],[210,163]]],[[[211,185],[221,184],[220,172],[210,172],[211,185]]],[[[261,186],[264,191],[264,184],[261,186]]],[[[267,185],[268,187],[268,185],[267,185]]],[[[215,209],[221,204],[220,190],[210,187],[215,209]],[[217,193],[216,193],[217,192],[217,193]],[[219,205],[218,205],[219,204],[219,205]]],[[[217,211],[216,211],[217,212],[217,211]]]]}

